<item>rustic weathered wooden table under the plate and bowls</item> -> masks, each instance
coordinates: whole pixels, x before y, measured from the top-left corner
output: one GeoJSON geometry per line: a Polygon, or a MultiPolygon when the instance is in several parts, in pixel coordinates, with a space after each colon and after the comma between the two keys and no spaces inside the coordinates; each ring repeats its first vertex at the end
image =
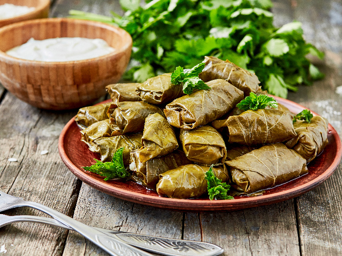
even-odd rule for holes
{"type": "MultiPolygon", "coordinates": [[[[342,136],[342,0],[274,0],[275,24],[303,23],[305,38],[325,52],[326,74],[289,99],[328,118],[342,136]]],[[[50,17],[69,9],[109,15],[114,0],[53,0],[50,17]]],[[[34,108],[0,87],[0,190],[45,204],[88,225],[139,234],[213,242],[223,255],[342,255],[342,166],[310,192],[280,203],[234,212],[182,213],[107,196],[63,164],[58,138],[77,110],[34,108]],[[48,150],[47,155],[41,155],[48,150]],[[9,162],[8,158],[18,158],[9,162]]],[[[8,215],[43,215],[29,208],[8,215]]],[[[75,232],[35,223],[0,229],[0,254],[107,255],[75,232]]]]}

